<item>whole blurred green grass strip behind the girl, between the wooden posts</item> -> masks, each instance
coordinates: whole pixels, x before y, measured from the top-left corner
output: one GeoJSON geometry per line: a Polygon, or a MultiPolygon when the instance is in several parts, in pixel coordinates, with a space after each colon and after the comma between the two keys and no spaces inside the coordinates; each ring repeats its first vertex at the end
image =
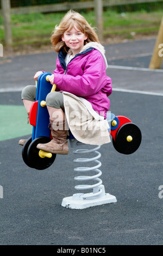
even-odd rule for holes
{"type": "MultiPolygon", "coordinates": [[[[65,13],[52,14],[23,14],[11,15],[12,36],[14,45],[34,44],[49,42],[55,25],[59,24],[65,13]]],[[[89,11],[81,13],[85,19],[95,27],[95,13],[89,11]]],[[[153,11],[147,13],[143,11],[135,11],[131,13],[117,13],[116,11],[104,11],[103,26],[104,36],[122,36],[132,38],[134,33],[152,34],[159,29],[162,18],[162,11],[153,11]]],[[[3,19],[0,17],[0,42],[4,44],[4,27],[3,19]]]]}

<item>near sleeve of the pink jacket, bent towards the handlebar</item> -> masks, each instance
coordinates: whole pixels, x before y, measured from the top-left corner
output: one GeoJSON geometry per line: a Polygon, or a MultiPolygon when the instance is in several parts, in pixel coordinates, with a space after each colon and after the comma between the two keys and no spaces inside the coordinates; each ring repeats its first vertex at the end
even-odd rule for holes
{"type": "Polygon", "coordinates": [[[82,75],[62,75],[54,71],[54,83],[60,90],[86,97],[98,93],[103,88],[105,93],[109,93],[111,81],[108,82],[102,54],[99,51],[93,51],[88,54],[82,75]]]}

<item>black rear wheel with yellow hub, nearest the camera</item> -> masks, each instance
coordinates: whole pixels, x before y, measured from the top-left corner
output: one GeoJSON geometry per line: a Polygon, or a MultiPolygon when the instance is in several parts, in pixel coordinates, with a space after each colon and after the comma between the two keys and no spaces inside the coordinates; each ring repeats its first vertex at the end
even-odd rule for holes
{"type": "Polygon", "coordinates": [[[133,154],[141,144],[141,131],[137,125],[127,123],[120,127],[116,133],[114,148],[121,154],[133,154]]]}

